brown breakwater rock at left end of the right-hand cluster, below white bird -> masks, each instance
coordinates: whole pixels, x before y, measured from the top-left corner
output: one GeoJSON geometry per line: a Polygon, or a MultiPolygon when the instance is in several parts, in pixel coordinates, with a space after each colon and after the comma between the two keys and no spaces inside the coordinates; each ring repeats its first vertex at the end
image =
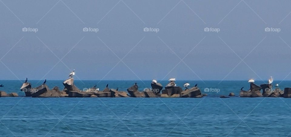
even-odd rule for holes
{"type": "Polygon", "coordinates": [[[239,93],[239,97],[263,97],[260,90],[262,88],[254,83],[250,83],[250,89],[249,91],[244,91],[243,88],[241,88],[241,91],[239,93]]]}

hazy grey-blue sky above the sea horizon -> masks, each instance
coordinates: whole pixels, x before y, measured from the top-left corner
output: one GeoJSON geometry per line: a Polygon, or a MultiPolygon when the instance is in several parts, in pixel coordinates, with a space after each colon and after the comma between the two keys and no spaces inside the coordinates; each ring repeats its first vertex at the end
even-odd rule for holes
{"type": "Polygon", "coordinates": [[[291,80],[290,5],[1,0],[0,79],[291,80]]]}

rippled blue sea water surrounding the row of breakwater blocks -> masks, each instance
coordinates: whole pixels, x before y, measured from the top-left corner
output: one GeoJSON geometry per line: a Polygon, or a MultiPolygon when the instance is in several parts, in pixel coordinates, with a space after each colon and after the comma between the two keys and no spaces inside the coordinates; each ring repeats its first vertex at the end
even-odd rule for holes
{"type": "MultiPolygon", "coordinates": [[[[29,81],[33,87],[38,81],[29,81]]],[[[99,81],[75,81],[80,89],[99,81]]],[[[135,81],[101,81],[120,91],[135,81]]],[[[137,81],[139,90],[151,81],[137,81]]],[[[246,81],[176,81],[198,84],[203,98],[31,98],[19,91],[20,81],[0,81],[8,93],[22,97],[0,98],[0,136],[288,136],[291,133],[291,99],[219,98],[239,94],[246,81]],[[217,88],[217,92],[204,92],[217,88]]],[[[274,81],[280,83],[281,81],[274,81]]],[[[42,81],[40,82],[40,84],[42,81]]],[[[166,85],[167,81],[161,82],[166,85]]],[[[263,84],[263,81],[256,81],[263,84]]],[[[48,81],[63,88],[62,81],[48,81]]],[[[289,87],[283,81],[280,88],[289,87]]]]}

